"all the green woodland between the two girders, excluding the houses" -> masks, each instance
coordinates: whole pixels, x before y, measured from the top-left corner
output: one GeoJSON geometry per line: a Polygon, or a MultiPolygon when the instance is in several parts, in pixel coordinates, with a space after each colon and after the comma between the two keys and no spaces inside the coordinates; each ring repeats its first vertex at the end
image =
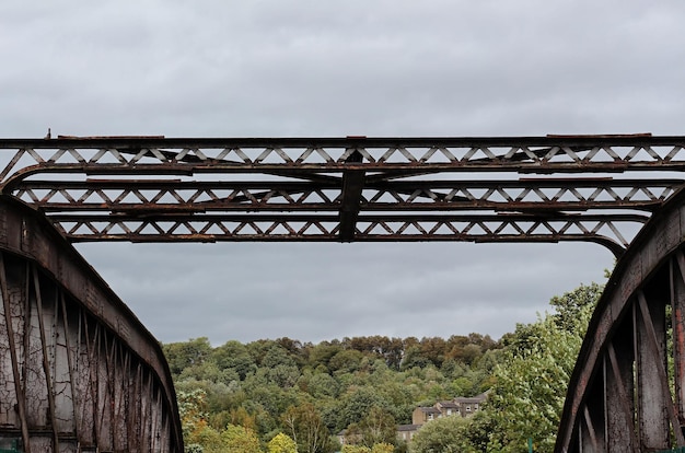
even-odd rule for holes
{"type": "Polygon", "coordinates": [[[514,452],[529,438],[552,451],[601,290],[591,283],[556,297],[550,313],[498,340],[472,333],[164,344],[186,451],[514,452]],[[410,423],[416,407],[486,391],[476,415],[429,422],[410,445],[397,440],[396,426],[410,423]],[[338,443],[344,430],[353,445],[338,443]]]}

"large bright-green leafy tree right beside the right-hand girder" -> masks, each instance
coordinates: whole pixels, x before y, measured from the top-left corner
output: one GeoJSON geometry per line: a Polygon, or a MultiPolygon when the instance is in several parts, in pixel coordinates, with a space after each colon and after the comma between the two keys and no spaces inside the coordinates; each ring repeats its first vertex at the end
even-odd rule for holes
{"type": "Polygon", "coordinates": [[[536,451],[554,450],[566,390],[599,294],[599,288],[581,286],[555,298],[561,315],[519,325],[509,337],[487,406],[502,452],[520,451],[530,438],[536,451]]]}

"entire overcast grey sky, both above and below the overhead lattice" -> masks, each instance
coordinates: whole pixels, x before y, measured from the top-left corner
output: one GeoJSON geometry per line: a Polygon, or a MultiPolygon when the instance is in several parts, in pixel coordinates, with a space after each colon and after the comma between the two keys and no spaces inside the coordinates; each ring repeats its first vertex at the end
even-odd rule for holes
{"type": "MultiPolygon", "coordinates": [[[[0,137],[684,135],[685,2],[0,3],[0,137]]],[[[599,245],[89,244],[162,341],[499,338],[599,245]]]]}

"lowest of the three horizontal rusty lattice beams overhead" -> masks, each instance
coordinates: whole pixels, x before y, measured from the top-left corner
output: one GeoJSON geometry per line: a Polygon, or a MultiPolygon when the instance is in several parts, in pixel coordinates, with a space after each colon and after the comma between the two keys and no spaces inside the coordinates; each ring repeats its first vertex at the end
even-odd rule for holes
{"type": "MultiPolygon", "coordinates": [[[[74,242],[340,240],[333,214],[55,214],[51,220],[74,242]]],[[[619,226],[647,220],[645,214],[360,214],[355,241],[589,241],[620,255],[628,240],[619,226]]]]}

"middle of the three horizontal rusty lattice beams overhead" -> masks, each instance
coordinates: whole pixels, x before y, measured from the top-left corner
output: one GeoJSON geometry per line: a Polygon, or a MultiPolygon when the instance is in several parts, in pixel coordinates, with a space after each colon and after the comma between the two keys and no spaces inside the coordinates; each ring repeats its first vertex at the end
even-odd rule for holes
{"type": "MultiPolygon", "coordinates": [[[[353,172],[353,173],[350,173],[353,172]]],[[[476,179],[369,183],[363,172],[322,183],[283,181],[26,181],[13,195],[44,212],[190,212],[403,210],[588,210],[651,211],[682,187],[683,179],[476,179]],[[357,196],[349,191],[350,176],[357,196]],[[348,188],[346,188],[348,187],[348,188]],[[363,196],[362,196],[363,195],[363,196]]]]}

